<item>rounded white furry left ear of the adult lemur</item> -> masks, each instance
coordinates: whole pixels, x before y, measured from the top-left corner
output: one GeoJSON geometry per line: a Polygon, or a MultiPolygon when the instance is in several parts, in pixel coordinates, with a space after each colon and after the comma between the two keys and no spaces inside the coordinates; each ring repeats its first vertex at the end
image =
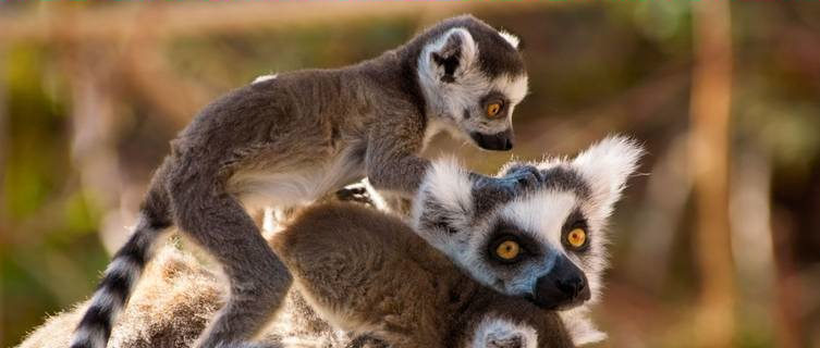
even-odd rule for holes
{"type": "Polygon", "coordinates": [[[455,159],[433,161],[413,202],[413,227],[435,246],[451,240],[443,237],[466,231],[473,216],[472,190],[469,172],[455,159]]]}

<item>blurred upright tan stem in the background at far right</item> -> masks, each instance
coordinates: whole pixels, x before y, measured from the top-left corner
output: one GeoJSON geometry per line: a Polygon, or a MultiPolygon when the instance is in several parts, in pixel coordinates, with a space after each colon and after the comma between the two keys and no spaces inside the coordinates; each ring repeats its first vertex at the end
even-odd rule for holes
{"type": "Polygon", "coordinates": [[[735,272],[729,222],[729,120],[732,88],[730,3],[693,2],[696,65],[689,150],[695,189],[695,252],[701,293],[700,347],[730,347],[734,336],[735,272]]]}

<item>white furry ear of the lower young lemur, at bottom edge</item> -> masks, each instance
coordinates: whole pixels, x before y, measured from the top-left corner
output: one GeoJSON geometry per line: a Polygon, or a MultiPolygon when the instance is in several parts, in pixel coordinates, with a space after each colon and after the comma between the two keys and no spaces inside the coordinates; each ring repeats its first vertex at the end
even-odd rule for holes
{"type": "Polygon", "coordinates": [[[535,348],[538,345],[538,333],[528,325],[516,325],[515,323],[501,318],[485,318],[475,333],[472,341],[467,345],[470,348],[494,348],[506,347],[504,343],[513,339],[521,339],[521,348],[535,348]]]}

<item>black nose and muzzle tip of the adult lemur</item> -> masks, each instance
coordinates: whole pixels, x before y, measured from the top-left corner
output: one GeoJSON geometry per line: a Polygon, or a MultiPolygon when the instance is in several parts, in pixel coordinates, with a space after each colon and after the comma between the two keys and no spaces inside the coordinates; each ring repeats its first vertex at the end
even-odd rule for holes
{"type": "Polygon", "coordinates": [[[535,288],[536,304],[547,309],[566,309],[589,300],[587,277],[566,257],[558,257],[552,271],[538,278],[535,288]]]}

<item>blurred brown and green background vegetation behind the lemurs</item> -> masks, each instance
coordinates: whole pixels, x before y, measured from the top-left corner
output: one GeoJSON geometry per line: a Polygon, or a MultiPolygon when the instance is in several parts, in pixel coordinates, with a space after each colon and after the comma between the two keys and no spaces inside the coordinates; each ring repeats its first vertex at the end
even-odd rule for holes
{"type": "MultiPolygon", "coordinates": [[[[0,2],[0,346],[90,296],[195,112],[474,13],[522,37],[514,156],[649,154],[612,222],[601,347],[820,347],[812,1],[0,2]]],[[[510,153],[439,137],[492,173],[510,153]]]]}

